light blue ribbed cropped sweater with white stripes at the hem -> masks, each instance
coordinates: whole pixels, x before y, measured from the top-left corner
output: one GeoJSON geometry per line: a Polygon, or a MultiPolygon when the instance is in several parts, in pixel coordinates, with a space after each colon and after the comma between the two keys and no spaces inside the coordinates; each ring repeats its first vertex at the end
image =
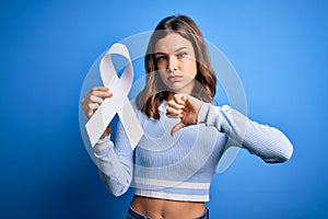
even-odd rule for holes
{"type": "Polygon", "coordinates": [[[99,174],[108,191],[122,195],[130,186],[134,195],[172,200],[208,201],[215,166],[230,147],[242,147],[265,162],[289,160],[293,147],[278,129],[250,120],[227,105],[203,104],[197,125],[171,129],[179,119],[165,115],[149,118],[133,104],[144,135],[134,150],[118,122],[115,143],[107,139],[94,149],[99,174]]]}

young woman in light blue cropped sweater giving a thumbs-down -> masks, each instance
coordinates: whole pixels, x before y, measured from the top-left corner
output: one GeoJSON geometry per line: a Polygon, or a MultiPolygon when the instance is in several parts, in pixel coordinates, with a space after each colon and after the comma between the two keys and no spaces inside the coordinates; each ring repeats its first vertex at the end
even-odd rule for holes
{"type": "MultiPolygon", "coordinates": [[[[127,218],[209,218],[204,203],[211,178],[232,146],[270,163],[291,158],[293,147],[280,130],[212,104],[215,73],[190,18],[159,23],[147,49],[145,80],[132,103],[144,130],[134,151],[120,123],[115,143],[104,132],[94,151],[113,195],[134,187],[127,218]]],[[[112,95],[106,88],[94,88],[82,100],[85,115],[90,118],[112,95]]]]}

